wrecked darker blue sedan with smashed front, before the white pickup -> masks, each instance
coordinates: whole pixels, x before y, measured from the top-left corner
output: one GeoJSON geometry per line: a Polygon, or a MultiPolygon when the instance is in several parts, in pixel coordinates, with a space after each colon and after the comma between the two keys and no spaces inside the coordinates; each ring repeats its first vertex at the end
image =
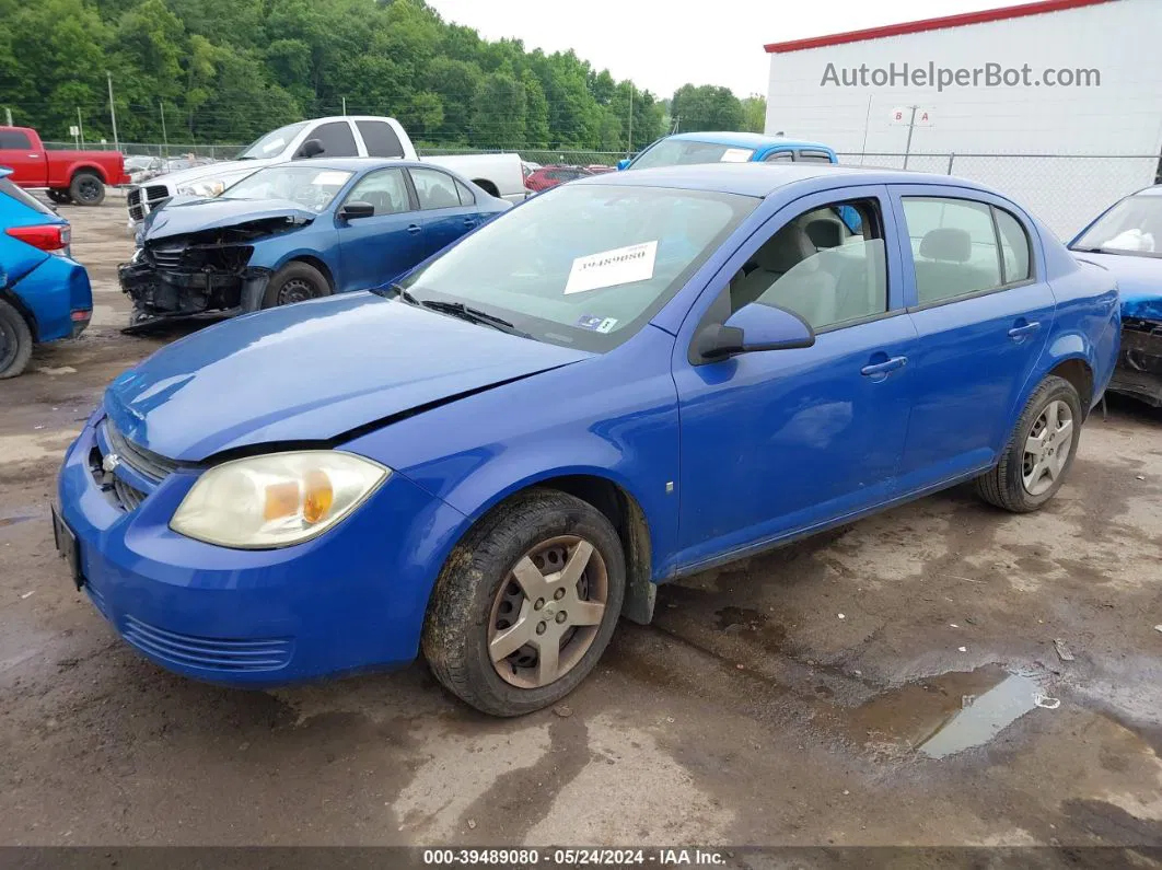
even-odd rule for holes
{"type": "Polygon", "coordinates": [[[509,208],[428,164],[279,164],[152,211],[119,276],[132,326],[257,311],[375,287],[509,208]]]}

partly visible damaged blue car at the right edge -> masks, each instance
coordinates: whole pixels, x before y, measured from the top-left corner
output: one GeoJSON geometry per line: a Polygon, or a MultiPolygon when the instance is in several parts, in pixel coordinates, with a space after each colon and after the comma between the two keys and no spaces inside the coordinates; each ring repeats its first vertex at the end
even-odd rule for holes
{"type": "Polygon", "coordinates": [[[1121,294],[1121,354],[1110,389],[1162,407],[1162,185],[1116,202],[1069,243],[1121,294]]]}

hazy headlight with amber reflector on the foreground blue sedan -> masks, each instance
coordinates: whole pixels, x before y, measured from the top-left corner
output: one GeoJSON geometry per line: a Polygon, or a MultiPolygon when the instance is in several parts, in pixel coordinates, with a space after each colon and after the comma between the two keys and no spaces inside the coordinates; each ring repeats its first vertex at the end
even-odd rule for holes
{"type": "Polygon", "coordinates": [[[170,527],[238,549],[300,544],[333,526],[392,474],[339,451],[272,453],[224,462],[203,474],[170,527]]]}

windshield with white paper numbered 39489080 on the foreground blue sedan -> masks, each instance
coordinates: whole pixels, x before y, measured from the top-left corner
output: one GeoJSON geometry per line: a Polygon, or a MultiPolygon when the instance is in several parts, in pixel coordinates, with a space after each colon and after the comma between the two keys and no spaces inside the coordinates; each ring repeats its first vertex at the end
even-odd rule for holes
{"type": "Polygon", "coordinates": [[[641,329],[760,201],[566,185],[486,224],[402,286],[419,302],[462,302],[538,340],[603,352],[641,329]]]}

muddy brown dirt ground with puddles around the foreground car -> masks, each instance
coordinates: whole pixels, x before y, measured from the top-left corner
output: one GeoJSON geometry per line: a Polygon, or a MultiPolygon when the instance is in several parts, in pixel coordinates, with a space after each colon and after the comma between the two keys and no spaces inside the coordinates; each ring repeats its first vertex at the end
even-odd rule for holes
{"type": "Polygon", "coordinates": [[[52,549],[63,448],[160,344],[119,332],[123,204],[63,211],[93,326],[0,383],[0,843],[1162,844],[1159,412],[1111,401],[1040,513],[954,490],[664,588],[567,711],[422,663],[213,688],[52,549]]]}

